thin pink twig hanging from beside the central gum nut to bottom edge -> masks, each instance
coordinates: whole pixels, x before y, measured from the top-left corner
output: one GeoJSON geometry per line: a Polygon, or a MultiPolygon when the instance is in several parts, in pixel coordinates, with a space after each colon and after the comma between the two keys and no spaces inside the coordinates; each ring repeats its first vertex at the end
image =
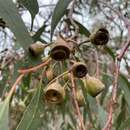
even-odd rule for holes
{"type": "Polygon", "coordinates": [[[86,130],[85,126],[84,126],[84,122],[83,122],[83,117],[80,113],[78,102],[76,100],[76,85],[75,85],[73,74],[71,74],[71,84],[72,84],[72,94],[73,94],[73,99],[74,99],[74,105],[75,105],[75,108],[76,108],[76,111],[77,111],[77,114],[78,114],[78,118],[79,118],[79,121],[80,121],[80,124],[81,124],[81,130],[86,130]]]}

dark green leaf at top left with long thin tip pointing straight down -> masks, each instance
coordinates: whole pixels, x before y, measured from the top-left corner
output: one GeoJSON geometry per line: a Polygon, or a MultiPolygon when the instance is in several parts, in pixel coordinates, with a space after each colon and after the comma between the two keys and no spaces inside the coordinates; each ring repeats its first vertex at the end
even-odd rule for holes
{"type": "Polygon", "coordinates": [[[27,8],[31,14],[32,22],[31,22],[31,30],[33,28],[33,21],[36,14],[39,11],[37,0],[20,0],[20,2],[27,8]]]}

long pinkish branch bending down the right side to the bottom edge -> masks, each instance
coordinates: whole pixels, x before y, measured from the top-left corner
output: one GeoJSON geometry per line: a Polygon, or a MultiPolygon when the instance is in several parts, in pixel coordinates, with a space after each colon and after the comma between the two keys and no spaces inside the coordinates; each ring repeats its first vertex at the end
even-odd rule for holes
{"type": "Polygon", "coordinates": [[[116,97],[117,97],[117,87],[118,87],[118,77],[119,77],[119,69],[120,66],[118,64],[118,61],[120,62],[121,59],[123,58],[125,52],[127,51],[129,45],[130,45],[130,21],[128,18],[124,17],[118,10],[114,9],[112,6],[108,5],[106,2],[99,0],[102,4],[104,4],[106,7],[110,8],[112,11],[114,11],[124,22],[124,25],[128,29],[128,38],[127,42],[125,43],[124,47],[121,50],[121,53],[117,56],[116,61],[115,61],[115,79],[113,82],[113,88],[112,88],[112,97],[110,100],[110,106],[109,106],[109,114],[108,114],[108,119],[107,122],[103,128],[103,130],[110,130],[112,127],[112,114],[114,111],[114,105],[116,104],[116,97]]]}

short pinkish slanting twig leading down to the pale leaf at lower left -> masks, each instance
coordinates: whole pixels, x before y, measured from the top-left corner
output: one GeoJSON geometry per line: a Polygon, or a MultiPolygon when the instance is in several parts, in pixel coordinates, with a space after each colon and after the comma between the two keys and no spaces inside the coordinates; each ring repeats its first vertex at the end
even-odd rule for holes
{"type": "Polygon", "coordinates": [[[11,90],[9,91],[9,94],[8,94],[9,97],[14,93],[14,91],[16,90],[17,85],[18,85],[19,82],[22,80],[23,76],[24,76],[24,74],[21,74],[21,75],[19,75],[19,77],[16,79],[15,83],[14,83],[13,86],[11,87],[11,90]]]}

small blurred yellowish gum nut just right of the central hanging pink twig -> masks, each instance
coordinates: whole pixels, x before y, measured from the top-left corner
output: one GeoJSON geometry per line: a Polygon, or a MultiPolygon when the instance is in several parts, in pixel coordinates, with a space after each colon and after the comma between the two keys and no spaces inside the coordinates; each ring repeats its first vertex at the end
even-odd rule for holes
{"type": "Polygon", "coordinates": [[[78,105],[79,105],[80,107],[84,106],[85,100],[84,100],[84,95],[83,95],[83,92],[82,92],[81,89],[78,89],[78,90],[76,91],[76,100],[77,100],[78,105]]]}

